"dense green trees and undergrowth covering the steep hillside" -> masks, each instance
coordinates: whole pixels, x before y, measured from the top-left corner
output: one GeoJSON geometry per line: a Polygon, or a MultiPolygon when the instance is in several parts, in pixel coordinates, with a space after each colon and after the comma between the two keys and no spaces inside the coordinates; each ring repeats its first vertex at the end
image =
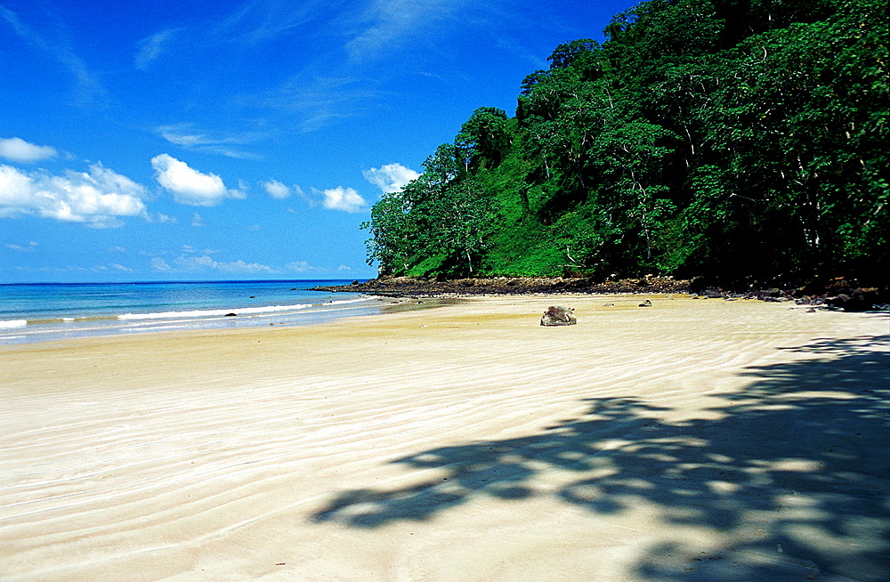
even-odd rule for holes
{"type": "Polygon", "coordinates": [[[409,275],[890,272],[885,0],[651,0],[558,46],[366,224],[409,275]]]}

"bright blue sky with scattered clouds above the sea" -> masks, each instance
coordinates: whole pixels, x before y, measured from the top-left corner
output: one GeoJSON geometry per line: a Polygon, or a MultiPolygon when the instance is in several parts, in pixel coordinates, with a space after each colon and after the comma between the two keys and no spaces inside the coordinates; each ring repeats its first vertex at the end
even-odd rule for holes
{"type": "Polygon", "coordinates": [[[374,277],[369,206],[633,4],[0,0],[0,282],[374,277]]]}

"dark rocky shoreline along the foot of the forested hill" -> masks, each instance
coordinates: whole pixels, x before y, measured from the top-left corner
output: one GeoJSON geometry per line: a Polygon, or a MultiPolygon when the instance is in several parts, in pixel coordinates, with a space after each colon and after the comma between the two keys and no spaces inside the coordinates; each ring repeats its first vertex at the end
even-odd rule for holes
{"type": "Polygon", "coordinates": [[[844,311],[886,311],[886,294],[877,288],[855,287],[844,279],[829,284],[810,285],[794,289],[767,288],[744,292],[719,287],[704,287],[696,280],[665,277],[644,277],[594,281],[584,278],[493,277],[479,279],[415,279],[409,277],[381,277],[351,285],[314,287],[330,293],[349,292],[382,295],[385,297],[473,297],[479,295],[627,295],[663,294],[692,295],[700,298],[727,300],[757,299],[765,302],[789,302],[844,311]]]}

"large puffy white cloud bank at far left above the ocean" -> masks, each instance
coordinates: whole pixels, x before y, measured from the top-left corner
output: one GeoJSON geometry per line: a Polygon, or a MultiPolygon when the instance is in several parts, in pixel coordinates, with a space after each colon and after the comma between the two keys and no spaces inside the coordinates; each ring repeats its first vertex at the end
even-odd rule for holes
{"type": "Polygon", "coordinates": [[[148,217],[145,187],[101,164],[53,175],[0,165],[0,217],[34,214],[90,226],[119,226],[121,216],[148,217]]]}

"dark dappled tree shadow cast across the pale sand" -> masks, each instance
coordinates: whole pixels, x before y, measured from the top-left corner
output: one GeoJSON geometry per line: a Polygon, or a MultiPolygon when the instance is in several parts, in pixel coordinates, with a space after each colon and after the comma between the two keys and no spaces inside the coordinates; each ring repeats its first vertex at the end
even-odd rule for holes
{"type": "Polygon", "coordinates": [[[794,348],[805,352],[795,361],[747,368],[751,384],[721,396],[716,420],[669,423],[650,403],[590,399],[584,416],[529,437],[398,459],[439,476],[345,491],[312,519],[376,528],[479,496],[556,495],[601,515],[648,504],[667,526],[705,527],[721,543],[667,537],[646,548],[638,578],[890,579],[888,343],[819,340],[794,348]],[[536,475],[553,469],[578,478],[540,492],[536,475]]]}

